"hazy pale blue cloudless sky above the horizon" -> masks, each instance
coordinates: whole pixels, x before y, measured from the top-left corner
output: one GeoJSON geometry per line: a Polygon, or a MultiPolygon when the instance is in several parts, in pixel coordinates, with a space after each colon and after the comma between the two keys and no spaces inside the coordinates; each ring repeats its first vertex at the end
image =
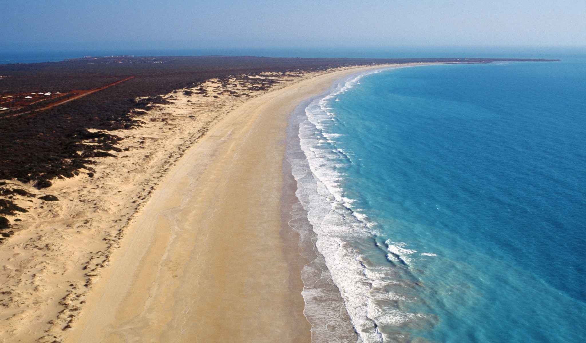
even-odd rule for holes
{"type": "Polygon", "coordinates": [[[586,0],[4,1],[0,49],[586,46],[586,0]]]}

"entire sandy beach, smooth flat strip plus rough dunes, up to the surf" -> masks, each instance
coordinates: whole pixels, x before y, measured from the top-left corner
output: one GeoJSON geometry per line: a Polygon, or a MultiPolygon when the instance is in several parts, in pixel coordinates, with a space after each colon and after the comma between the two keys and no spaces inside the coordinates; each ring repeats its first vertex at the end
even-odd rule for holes
{"type": "Polygon", "coordinates": [[[127,158],[57,180],[45,193],[62,201],[21,216],[0,256],[0,341],[310,342],[307,261],[283,211],[288,116],[381,67],[281,76],[248,99],[166,95],[124,133],[127,158]]]}

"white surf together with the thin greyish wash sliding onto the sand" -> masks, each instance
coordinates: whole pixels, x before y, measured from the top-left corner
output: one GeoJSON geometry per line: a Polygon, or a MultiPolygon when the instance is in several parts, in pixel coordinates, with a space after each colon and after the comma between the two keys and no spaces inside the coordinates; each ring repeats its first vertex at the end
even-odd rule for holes
{"type": "Polygon", "coordinates": [[[291,118],[287,160],[298,203],[291,207],[290,226],[299,232],[302,254],[309,260],[301,277],[314,343],[383,342],[381,325],[399,325],[417,316],[399,309],[389,315],[376,304],[402,296],[382,290],[392,270],[366,267],[371,263],[363,251],[372,245],[374,232],[368,219],[352,210],[353,200],[343,195],[339,185],[344,176],[336,164],[351,157],[334,149],[337,136],[328,132],[334,118],[328,102],[383,69],[336,80],[327,92],[302,102],[291,118]]]}

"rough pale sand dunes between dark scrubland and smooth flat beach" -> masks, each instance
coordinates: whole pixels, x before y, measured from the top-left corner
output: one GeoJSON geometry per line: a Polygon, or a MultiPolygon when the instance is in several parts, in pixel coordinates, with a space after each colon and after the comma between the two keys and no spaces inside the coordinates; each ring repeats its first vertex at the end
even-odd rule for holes
{"type": "MultiPolygon", "coordinates": [[[[128,241],[128,229],[189,148],[247,99],[321,73],[263,72],[234,76],[229,84],[210,79],[175,90],[132,114],[141,123],[137,128],[110,131],[120,140],[117,155],[96,161],[90,170],[54,179],[40,192],[22,180],[0,180],[0,191],[20,206],[8,215],[12,225],[0,228],[9,231],[0,238],[5,261],[0,341],[63,341],[86,311],[87,297],[111,258],[128,241]],[[251,77],[271,87],[255,88],[249,98],[230,95],[234,88],[251,88],[251,77]]],[[[108,135],[89,129],[86,136],[84,145],[101,149],[96,144],[108,135]]]]}

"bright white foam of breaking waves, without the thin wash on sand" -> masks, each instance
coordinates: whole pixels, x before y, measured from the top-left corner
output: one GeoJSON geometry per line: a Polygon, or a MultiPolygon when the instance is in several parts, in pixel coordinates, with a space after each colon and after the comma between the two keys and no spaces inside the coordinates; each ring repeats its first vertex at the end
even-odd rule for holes
{"type": "MultiPolygon", "coordinates": [[[[381,305],[387,301],[408,299],[388,290],[387,286],[394,284],[394,271],[390,266],[367,267],[364,264],[364,256],[355,242],[372,238],[377,232],[373,231],[374,223],[366,214],[352,210],[354,200],[343,194],[340,182],[344,176],[336,168],[341,165],[339,154],[342,150],[325,146],[324,142],[335,143],[332,138],[340,137],[328,132],[331,125],[328,123],[332,122],[328,101],[354,87],[362,76],[371,73],[346,81],[331,94],[312,101],[305,108],[307,120],[299,124],[299,140],[306,165],[292,163],[292,173],[298,183],[296,195],[317,235],[315,246],[325,260],[333,283],[338,286],[359,342],[364,343],[384,342],[384,335],[379,331],[381,325],[401,325],[422,316],[381,305]]],[[[343,153],[343,156],[348,155],[343,153]]],[[[400,256],[406,263],[409,261],[406,256],[415,252],[405,249],[401,243],[394,243],[392,248],[387,243],[387,249],[392,258],[400,256]]],[[[321,279],[319,273],[315,275],[314,278],[306,277],[308,282],[309,279],[321,279]]]]}

